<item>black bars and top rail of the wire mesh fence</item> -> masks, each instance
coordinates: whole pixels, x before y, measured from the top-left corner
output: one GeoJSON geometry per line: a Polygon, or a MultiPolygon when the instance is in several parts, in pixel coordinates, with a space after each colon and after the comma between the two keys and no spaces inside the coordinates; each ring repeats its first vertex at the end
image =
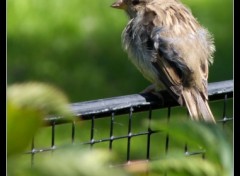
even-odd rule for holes
{"type": "MultiPolygon", "coordinates": [[[[167,108],[167,118],[169,119],[171,116],[171,109],[172,107],[179,106],[176,101],[173,100],[173,98],[168,94],[166,91],[161,91],[162,98],[158,98],[156,95],[148,93],[148,94],[133,94],[133,95],[127,95],[127,96],[119,96],[119,97],[112,97],[112,98],[106,98],[106,99],[99,99],[99,100],[93,100],[93,101],[86,101],[86,102],[80,102],[80,103],[73,103],[70,104],[71,110],[76,115],[76,118],[73,121],[69,121],[64,119],[63,117],[56,117],[56,116],[49,116],[45,118],[46,126],[51,127],[51,144],[49,147],[45,148],[37,148],[35,147],[35,142],[33,140],[31,150],[26,152],[27,154],[31,154],[31,164],[33,165],[35,160],[35,154],[41,153],[41,152],[48,152],[48,151],[54,151],[58,148],[63,147],[57,146],[55,143],[55,131],[59,124],[69,124],[72,123],[71,128],[71,141],[75,145],[90,145],[92,147],[95,144],[107,142],[109,150],[114,149],[114,143],[115,141],[119,141],[122,139],[127,140],[126,142],[126,161],[131,160],[131,147],[132,147],[132,139],[139,136],[146,136],[146,147],[144,149],[144,152],[146,152],[146,157],[143,159],[151,159],[150,153],[151,153],[151,145],[152,145],[152,136],[153,134],[158,133],[159,131],[156,131],[151,128],[150,122],[152,120],[152,112],[156,109],[166,109],[167,108]],[[146,119],[149,122],[148,127],[139,132],[133,132],[132,128],[134,125],[133,121],[133,114],[137,112],[147,112],[146,119]],[[116,135],[116,116],[125,114],[127,116],[127,122],[124,125],[124,128],[126,128],[126,133],[123,135],[116,135]],[[106,128],[104,130],[109,131],[109,136],[102,139],[96,139],[95,138],[95,124],[96,121],[100,118],[108,118],[109,128],[106,128]],[[89,140],[84,142],[76,142],[79,139],[76,139],[76,123],[79,120],[88,120],[91,122],[89,133],[86,134],[89,137],[89,140]]],[[[226,112],[226,104],[227,100],[233,98],[233,81],[221,81],[221,82],[215,82],[210,83],[208,86],[208,94],[209,94],[209,101],[216,101],[221,100],[223,101],[223,108],[220,108],[219,110],[222,111],[222,117],[220,120],[218,120],[219,123],[222,123],[223,125],[229,121],[233,120],[233,117],[229,116],[226,112]]],[[[169,136],[166,135],[164,141],[161,141],[161,143],[165,144],[165,153],[169,150],[169,136]]],[[[71,145],[66,144],[66,145],[71,145]]],[[[184,146],[184,151],[187,155],[202,155],[204,157],[203,151],[189,151],[188,146],[184,146]]]]}

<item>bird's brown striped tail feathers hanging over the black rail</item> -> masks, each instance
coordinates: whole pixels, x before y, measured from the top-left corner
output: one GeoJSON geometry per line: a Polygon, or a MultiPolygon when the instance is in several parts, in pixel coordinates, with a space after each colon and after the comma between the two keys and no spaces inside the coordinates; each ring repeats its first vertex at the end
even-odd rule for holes
{"type": "Polygon", "coordinates": [[[216,123],[207,99],[197,89],[185,89],[182,95],[191,119],[216,123]]]}

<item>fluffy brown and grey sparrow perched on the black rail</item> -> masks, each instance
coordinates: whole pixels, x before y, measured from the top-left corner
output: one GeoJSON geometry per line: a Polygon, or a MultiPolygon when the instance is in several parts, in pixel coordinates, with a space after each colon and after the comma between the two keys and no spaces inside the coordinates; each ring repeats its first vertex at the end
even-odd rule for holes
{"type": "Polygon", "coordinates": [[[167,90],[196,121],[216,123],[208,104],[213,35],[180,0],[116,0],[129,21],[121,41],[129,59],[152,83],[147,92],[167,90]]]}

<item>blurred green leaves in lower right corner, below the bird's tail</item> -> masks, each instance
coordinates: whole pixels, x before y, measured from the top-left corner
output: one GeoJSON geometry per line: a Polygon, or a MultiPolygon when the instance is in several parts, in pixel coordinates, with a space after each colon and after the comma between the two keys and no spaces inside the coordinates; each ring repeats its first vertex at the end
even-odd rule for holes
{"type": "Polygon", "coordinates": [[[206,159],[183,156],[181,151],[171,152],[166,158],[150,164],[153,173],[168,172],[173,175],[229,176],[233,175],[232,146],[225,133],[215,124],[175,121],[155,127],[168,133],[172,139],[186,141],[199,151],[204,151],[206,159]]]}

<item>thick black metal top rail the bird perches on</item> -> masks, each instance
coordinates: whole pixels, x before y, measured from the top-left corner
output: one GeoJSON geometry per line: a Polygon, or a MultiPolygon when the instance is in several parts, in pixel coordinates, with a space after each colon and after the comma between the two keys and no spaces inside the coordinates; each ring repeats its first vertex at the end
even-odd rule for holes
{"type": "MultiPolygon", "coordinates": [[[[129,108],[134,108],[134,112],[146,111],[151,109],[161,109],[167,107],[179,106],[179,104],[169,95],[167,91],[160,91],[160,99],[152,93],[133,94],[112,98],[105,98],[93,101],[73,103],[70,108],[81,120],[89,120],[92,116],[96,118],[106,117],[115,113],[115,115],[126,114],[129,108]]],[[[209,101],[233,97],[233,80],[209,83],[208,85],[209,101]]],[[[66,123],[62,117],[47,117],[45,119],[48,124],[66,123]]]]}

